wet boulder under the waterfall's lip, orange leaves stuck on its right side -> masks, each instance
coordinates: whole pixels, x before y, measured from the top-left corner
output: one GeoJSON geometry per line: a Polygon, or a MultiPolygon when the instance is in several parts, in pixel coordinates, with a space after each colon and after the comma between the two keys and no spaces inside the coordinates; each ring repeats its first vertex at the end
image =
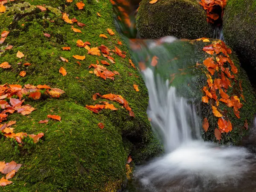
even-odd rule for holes
{"type": "MultiPolygon", "coordinates": [[[[218,128],[218,117],[214,116],[212,105],[218,109],[226,121],[228,121],[228,119],[230,120],[233,127],[232,131],[221,134],[221,144],[238,144],[241,141],[241,138],[248,134],[249,129],[247,130],[244,124],[247,121],[249,128],[253,125],[253,117],[256,113],[255,96],[250,81],[248,80],[245,71],[241,68],[235,53],[227,55],[232,59],[238,73],[235,74],[235,78],[228,78],[231,84],[227,89],[223,87],[221,87],[221,89],[227,90],[227,94],[230,98],[232,98],[232,96],[237,96],[240,100],[243,105],[242,108],[239,109],[240,118],[235,115],[232,107],[228,107],[224,102],[219,100],[221,99],[219,88],[215,90],[218,102],[216,102],[215,99],[209,99],[208,103],[202,102],[202,97],[206,95],[203,90],[204,87],[207,87],[210,91],[207,79],[211,77],[213,83],[215,79],[222,79],[221,67],[219,67],[219,69],[217,68],[215,73],[211,75],[204,65],[204,61],[207,58],[212,58],[217,64],[216,57],[220,55],[224,56],[223,52],[220,52],[217,55],[216,53],[212,53],[213,55],[208,54],[203,51],[203,48],[211,44],[223,44],[223,47],[225,47],[224,42],[217,39],[181,41],[174,40],[171,37],[141,41],[142,42],[137,41],[134,43],[140,44],[142,49],[132,52],[133,57],[139,64],[138,67],[142,70],[144,70],[145,67],[151,68],[154,74],[158,74],[161,77],[164,84],[163,86],[166,85],[166,81],[168,80],[169,86],[176,87],[178,96],[186,98],[190,104],[195,106],[198,116],[201,117],[202,121],[204,118],[208,119],[208,131],[204,131],[201,127],[201,134],[204,140],[219,143],[215,137],[215,128],[218,128]],[[150,55],[151,58],[148,55],[150,55]],[[153,64],[155,67],[151,65],[153,56],[157,56],[157,64],[153,64]],[[244,96],[244,99],[241,95],[244,96]]],[[[131,47],[138,49],[140,46],[132,44],[131,47]]],[[[228,62],[224,62],[223,67],[228,68],[232,74],[231,66],[228,62]]],[[[224,72],[223,74],[227,77],[224,72]]],[[[160,81],[158,76],[155,76],[155,78],[157,82],[160,81]]]]}

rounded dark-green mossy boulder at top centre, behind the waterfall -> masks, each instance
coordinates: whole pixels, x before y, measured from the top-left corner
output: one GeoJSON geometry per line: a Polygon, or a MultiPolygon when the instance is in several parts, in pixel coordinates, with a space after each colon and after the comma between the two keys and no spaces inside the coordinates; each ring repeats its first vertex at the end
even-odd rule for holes
{"type": "Polygon", "coordinates": [[[214,38],[206,12],[197,0],[158,0],[150,4],[142,0],[137,29],[144,38],[172,35],[176,38],[214,38]]]}

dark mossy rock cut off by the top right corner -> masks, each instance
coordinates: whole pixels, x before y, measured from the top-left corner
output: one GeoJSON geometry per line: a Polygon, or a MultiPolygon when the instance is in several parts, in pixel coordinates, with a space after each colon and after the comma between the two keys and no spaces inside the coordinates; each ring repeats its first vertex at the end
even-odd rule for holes
{"type": "Polygon", "coordinates": [[[223,33],[227,44],[236,51],[250,80],[256,79],[256,0],[228,0],[224,10],[223,33]]]}

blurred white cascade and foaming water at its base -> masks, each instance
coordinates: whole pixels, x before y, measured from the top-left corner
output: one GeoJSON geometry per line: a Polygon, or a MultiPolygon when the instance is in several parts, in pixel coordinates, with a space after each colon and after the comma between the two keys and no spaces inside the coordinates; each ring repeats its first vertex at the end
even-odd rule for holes
{"type": "Polygon", "coordinates": [[[252,170],[248,174],[253,154],[243,147],[220,147],[201,140],[193,105],[178,97],[175,87],[151,69],[142,73],[149,94],[148,117],[166,154],[137,167],[134,180],[140,187],[135,191],[236,191],[239,180],[255,174],[252,170]]]}

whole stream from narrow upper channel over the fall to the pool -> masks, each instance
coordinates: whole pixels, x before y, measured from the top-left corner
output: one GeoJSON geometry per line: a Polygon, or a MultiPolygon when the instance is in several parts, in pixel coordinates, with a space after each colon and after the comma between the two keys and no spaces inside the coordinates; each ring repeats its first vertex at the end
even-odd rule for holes
{"type": "MultiPolygon", "coordinates": [[[[122,4],[120,0],[116,2],[122,4]]],[[[192,47],[173,37],[137,39],[134,7],[120,6],[114,6],[117,29],[136,64],[143,64],[140,68],[148,88],[148,117],[165,149],[161,157],[136,166],[125,192],[256,192],[255,145],[245,148],[204,142],[200,111],[193,100],[197,83],[193,74],[181,73],[176,81],[172,79],[178,70],[195,62],[188,57],[189,53],[193,56],[192,47]],[[156,53],[161,55],[158,68],[148,60],[156,53]],[[188,82],[188,77],[192,81],[188,82]]],[[[223,38],[221,28],[215,32],[223,38]]],[[[251,137],[250,140],[256,138],[253,132],[251,137]]]]}

